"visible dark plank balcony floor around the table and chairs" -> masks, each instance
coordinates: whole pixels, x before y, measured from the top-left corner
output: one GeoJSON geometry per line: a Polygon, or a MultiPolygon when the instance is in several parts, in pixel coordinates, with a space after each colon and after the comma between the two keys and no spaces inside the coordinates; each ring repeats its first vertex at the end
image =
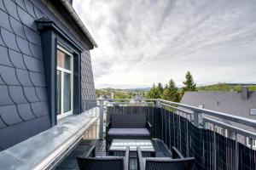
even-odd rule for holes
{"type": "MultiPolygon", "coordinates": [[[[161,140],[153,139],[154,149],[156,150],[156,157],[168,157],[171,156],[170,152],[166,148],[161,140]]],[[[81,143],[67,156],[67,158],[61,162],[56,168],[57,170],[78,170],[79,165],[77,163],[77,156],[84,156],[92,145],[96,145],[96,156],[106,156],[106,142],[105,140],[82,140],[81,143]]],[[[137,157],[136,153],[130,153],[130,169],[137,169],[137,157]]]]}

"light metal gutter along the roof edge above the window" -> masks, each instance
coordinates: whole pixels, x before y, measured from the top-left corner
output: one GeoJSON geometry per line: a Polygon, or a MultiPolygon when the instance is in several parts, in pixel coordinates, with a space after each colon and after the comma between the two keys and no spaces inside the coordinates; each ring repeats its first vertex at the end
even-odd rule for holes
{"type": "Polygon", "coordinates": [[[90,35],[90,32],[84,26],[84,23],[82,22],[82,20],[80,20],[79,15],[76,13],[73,6],[68,2],[68,0],[61,0],[61,3],[67,9],[68,13],[72,16],[73,20],[75,20],[76,23],[79,25],[79,27],[82,29],[82,31],[84,31],[84,34],[89,38],[89,40],[93,44],[93,46],[95,48],[97,48],[98,45],[97,45],[96,41],[93,39],[93,37],[90,35]]]}

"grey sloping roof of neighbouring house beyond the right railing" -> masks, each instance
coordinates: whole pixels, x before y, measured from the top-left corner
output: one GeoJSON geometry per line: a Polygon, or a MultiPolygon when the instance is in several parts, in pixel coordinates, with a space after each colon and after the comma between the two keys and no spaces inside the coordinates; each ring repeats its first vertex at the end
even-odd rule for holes
{"type": "Polygon", "coordinates": [[[256,120],[250,115],[256,108],[256,92],[248,92],[247,99],[242,99],[241,92],[186,92],[181,103],[256,120]]]}

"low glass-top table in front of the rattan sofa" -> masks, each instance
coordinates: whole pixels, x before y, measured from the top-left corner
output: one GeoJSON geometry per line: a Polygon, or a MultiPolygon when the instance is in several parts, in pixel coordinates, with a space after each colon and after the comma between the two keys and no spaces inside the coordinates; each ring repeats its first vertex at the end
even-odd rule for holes
{"type": "Polygon", "coordinates": [[[150,139],[113,139],[108,152],[125,151],[126,146],[130,147],[130,151],[137,151],[140,146],[142,152],[151,152],[154,156],[154,144],[150,139]]]}

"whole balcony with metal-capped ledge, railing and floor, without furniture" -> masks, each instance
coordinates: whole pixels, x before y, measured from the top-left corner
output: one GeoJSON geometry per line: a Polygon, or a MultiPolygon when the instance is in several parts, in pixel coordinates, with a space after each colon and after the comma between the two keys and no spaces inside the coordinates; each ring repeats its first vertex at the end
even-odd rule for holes
{"type": "MultiPolygon", "coordinates": [[[[4,169],[79,169],[77,157],[88,155],[92,148],[96,156],[117,156],[118,153],[109,150],[113,140],[108,135],[108,122],[113,121],[113,116],[131,114],[145,115],[151,124],[154,157],[172,159],[175,155],[172,147],[175,147],[184,157],[195,158],[193,169],[256,168],[254,120],[162,99],[97,99],[83,101],[82,105],[84,113],[79,116],[68,116],[49,132],[4,150],[0,155],[1,166],[4,169]],[[49,138],[54,140],[48,142],[49,138]]],[[[125,118],[119,120],[126,122],[125,118]]],[[[137,150],[131,148],[129,169],[140,169],[137,150]]],[[[143,157],[152,157],[148,152],[142,153],[143,157]]]]}

